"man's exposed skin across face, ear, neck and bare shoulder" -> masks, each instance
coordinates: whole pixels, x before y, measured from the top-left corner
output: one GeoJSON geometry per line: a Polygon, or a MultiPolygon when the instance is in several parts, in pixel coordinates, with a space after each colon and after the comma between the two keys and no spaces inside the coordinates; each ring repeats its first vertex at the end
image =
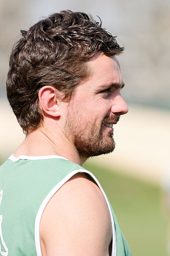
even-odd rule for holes
{"type": "MultiPolygon", "coordinates": [[[[88,66],[91,76],[78,85],[69,102],[62,101],[62,92],[56,88],[40,89],[43,125],[28,133],[16,157],[59,155],[82,165],[98,139],[94,154],[106,147],[114,149],[113,128],[104,124],[116,124],[117,117],[128,112],[120,94],[120,65],[115,56],[101,53],[88,66]]],[[[41,217],[40,238],[43,256],[111,255],[108,207],[98,186],[85,174],[76,174],[49,201],[41,217]]]]}

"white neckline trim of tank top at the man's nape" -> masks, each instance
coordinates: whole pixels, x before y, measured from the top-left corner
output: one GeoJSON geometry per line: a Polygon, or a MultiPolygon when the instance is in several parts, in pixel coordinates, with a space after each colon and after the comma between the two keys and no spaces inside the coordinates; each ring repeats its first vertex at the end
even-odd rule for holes
{"type": "Polygon", "coordinates": [[[65,159],[67,161],[69,161],[67,158],[64,158],[62,156],[56,156],[56,155],[48,155],[48,156],[25,156],[25,155],[21,155],[18,157],[15,157],[14,154],[12,154],[11,156],[9,156],[9,160],[11,160],[12,162],[16,162],[18,160],[44,160],[44,159],[54,159],[54,158],[61,158],[61,159],[65,159]]]}

